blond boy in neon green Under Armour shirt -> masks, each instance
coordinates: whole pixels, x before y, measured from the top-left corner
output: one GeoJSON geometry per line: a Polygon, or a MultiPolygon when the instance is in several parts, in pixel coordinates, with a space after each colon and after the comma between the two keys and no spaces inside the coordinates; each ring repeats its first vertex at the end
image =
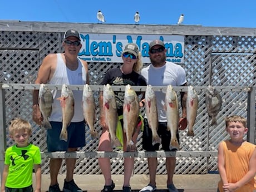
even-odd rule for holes
{"type": "Polygon", "coordinates": [[[39,147],[28,142],[31,132],[28,121],[20,118],[11,121],[9,136],[16,144],[6,150],[1,192],[32,192],[34,165],[35,192],[41,191],[41,154],[39,147]]]}

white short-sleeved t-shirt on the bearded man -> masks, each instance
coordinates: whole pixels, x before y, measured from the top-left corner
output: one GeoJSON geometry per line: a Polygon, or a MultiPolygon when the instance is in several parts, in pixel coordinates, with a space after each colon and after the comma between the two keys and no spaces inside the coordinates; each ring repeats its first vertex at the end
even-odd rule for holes
{"type": "MultiPolygon", "coordinates": [[[[183,67],[173,63],[166,62],[162,67],[154,67],[152,64],[141,70],[141,75],[151,86],[181,86],[186,83],[186,73],[183,67]]],[[[156,91],[156,102],[158,121],[166,122],[164,110],[165,92],[156,91]]]]}

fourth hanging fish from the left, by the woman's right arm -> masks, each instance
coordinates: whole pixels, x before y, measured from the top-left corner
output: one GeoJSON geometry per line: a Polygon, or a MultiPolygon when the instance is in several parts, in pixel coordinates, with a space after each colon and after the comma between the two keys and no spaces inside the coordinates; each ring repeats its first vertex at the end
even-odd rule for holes
{"type": "Polygon", "coordinates": [[[103,86],[103,110],[107,129],[109,130],[111,137],[111,146],[121,146],[120,141],[116,137],[116,127],[118,122],[116,97],[109,84],[103,86]]]}

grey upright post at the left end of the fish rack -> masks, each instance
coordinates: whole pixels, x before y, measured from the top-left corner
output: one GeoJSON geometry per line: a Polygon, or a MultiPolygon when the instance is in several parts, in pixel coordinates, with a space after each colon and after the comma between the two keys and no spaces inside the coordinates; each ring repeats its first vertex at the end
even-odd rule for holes
{"type": "Polygon", "coordinates": [[[4,90],[0,86],[0,181],[4,168],[4,152],[6,151],[6,107],[4,99],[4,90]]]}

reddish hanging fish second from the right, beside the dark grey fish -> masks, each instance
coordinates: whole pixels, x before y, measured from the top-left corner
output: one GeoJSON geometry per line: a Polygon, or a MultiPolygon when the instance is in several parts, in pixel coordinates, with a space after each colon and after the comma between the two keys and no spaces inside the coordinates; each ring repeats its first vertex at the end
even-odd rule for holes
{"type": "Polygon", "coordinates": [[[188,136],[195,136],[193,126],[195,124],[198,111],[198,95],[193,86],[188,87],[188,96],[186,98],[186,120],[188,121],[188,136]]]}

